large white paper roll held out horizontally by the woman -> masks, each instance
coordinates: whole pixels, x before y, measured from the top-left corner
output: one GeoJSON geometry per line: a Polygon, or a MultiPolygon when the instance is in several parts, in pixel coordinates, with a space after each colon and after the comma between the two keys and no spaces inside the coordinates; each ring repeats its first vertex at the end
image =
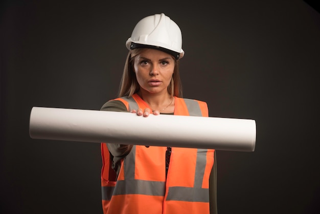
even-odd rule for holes
{"type": "Polygon", "coordinates": [[[256,121],[180,115],[33,107],[33,139],[253,152],[256,121]]]}

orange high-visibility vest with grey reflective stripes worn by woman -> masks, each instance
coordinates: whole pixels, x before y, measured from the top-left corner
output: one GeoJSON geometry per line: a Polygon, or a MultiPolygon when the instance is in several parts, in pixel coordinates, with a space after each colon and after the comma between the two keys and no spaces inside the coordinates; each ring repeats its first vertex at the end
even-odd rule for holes
{"type": "MultiPolygon", "coordinates": [[[[137,94],[116,100],[121,100],[128,111],[150,108],[137,94]]],[[[174,115],[209,116],[207,103],[203,101],[175,97],[174,105],[174,115]]],[[[115,181],[108,148],[106,143],[101,143],[103,213],[209,213],[209,176],[214,149],[172,147],[167,178],[166,150],[165,146],[133,145],[121,160],[115,181]]]]}

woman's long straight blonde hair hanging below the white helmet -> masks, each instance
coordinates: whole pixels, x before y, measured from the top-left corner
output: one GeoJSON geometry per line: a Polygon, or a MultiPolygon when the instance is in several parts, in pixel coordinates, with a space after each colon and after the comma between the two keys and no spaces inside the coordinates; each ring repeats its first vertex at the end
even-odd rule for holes
{"type": "MultiPolygon", "coordinates": [[[[123,69],[123,74],[120,83],[119,89],[119,97],[127,96],[131,97],[134,93],[138,92],[140,89],[140,85],[136,80],[134,73],[134,58],[136,55],[139,55],[142,51],[142,48],[137,48],[130,50],[125,62],[125,66],[123,69]]],[[[174,57],[172,57],[174,58],[174,57]]],[[[179,73],[179,60],[175,60],[173,75],[168,85],[168,93],[171,96],[182,97],[182,84],[180,80],[179,73]]]]}

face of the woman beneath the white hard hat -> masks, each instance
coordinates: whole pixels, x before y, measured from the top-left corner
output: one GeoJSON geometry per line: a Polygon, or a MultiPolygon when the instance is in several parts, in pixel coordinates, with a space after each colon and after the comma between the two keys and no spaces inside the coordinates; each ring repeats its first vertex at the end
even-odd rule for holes
{"type": "Polygon", "coordinates": [[[142,92],[168,93],[175,60],[171,54],[155,49],[143,49],[134,58],[134,72],[142,92]]]}

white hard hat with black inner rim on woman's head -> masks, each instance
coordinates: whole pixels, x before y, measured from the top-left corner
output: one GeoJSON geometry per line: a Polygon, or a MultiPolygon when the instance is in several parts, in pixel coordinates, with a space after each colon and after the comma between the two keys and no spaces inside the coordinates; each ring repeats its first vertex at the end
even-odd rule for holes
{"type": "Polygon", "coordinates": [[[176,59],[185,54],[182,50],[182,34],[178,25],[164,13],[147,16],[134,27],[126,41],[128,50],[153,48],[173,55],[176,59]]]}

